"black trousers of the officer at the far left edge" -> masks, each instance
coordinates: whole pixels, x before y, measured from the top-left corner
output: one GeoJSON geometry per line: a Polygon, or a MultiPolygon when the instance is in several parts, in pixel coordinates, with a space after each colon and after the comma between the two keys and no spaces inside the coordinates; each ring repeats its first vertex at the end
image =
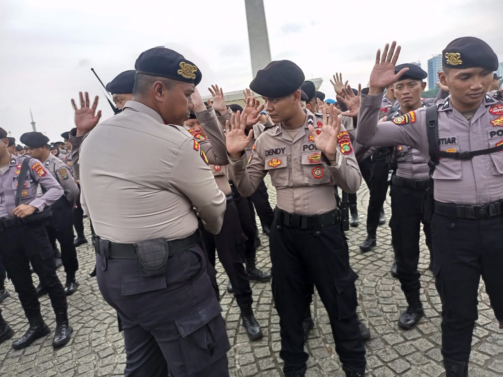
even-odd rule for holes
{"type": "Polygon", "coordinates": [[[26,317],[30,319],[40,315],[40,303],[33,286],[30,263],[42,286],[49,292],[54,311],[66,311],[66,295],[56,274],[54,251],[45,226],[40,223],[4,228],[0,231],[0,245],[7,274],[18,293],[26,317]]]}

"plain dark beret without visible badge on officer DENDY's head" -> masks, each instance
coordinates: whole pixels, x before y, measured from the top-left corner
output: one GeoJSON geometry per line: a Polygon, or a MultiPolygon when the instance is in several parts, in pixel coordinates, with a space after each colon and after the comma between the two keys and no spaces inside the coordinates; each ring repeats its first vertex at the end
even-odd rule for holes
{"type": "Polygon", "coordinates": [[[290,60],[275,60],[257,72],[250,82],[250,89],[261,96],[281,98],[299,90],[304,73],[290,60]]]}

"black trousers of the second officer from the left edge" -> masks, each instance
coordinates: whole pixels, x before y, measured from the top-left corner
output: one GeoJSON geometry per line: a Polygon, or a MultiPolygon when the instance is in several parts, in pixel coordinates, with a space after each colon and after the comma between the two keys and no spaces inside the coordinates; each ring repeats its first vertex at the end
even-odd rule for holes
{"type": "Polygon", "coordinates": [[[52,205],[52,217],[47,226],[49,239],[56,239],[61,247],[61,260],[67,278],[74,278],[78,270],[77,250],[73,245],[73,208],[66,198],[59,198],[52,205]]]}

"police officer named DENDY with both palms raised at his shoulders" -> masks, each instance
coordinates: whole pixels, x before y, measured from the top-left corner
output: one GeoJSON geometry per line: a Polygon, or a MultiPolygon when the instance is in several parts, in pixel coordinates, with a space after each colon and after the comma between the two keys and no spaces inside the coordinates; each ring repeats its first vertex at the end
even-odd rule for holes
{"type": "Polygon", "coordinates": [[[329,117],[315,118],[300,106],[301,69],[288,60],[273,61],[250,84],[259,93],[276,126],[256,140],[247,160],[244,124],[234,116],[227,130],[229,169],[239,193],[254,192],[267,172],[277,190],[271,227],[273,297],[280,316],[281,351],[286,377],[304,376],[302,320],[309,281],[314,282],[328,312],[336,349],[347,376],[365,372],[365,348],[356,316],[357,274],[349,265],[333,186],[356,192],[361,175],[349,134],[333,106],[329,117]],[[317,121],[322,122],[321,126],[317,121]],[[241,124],[243,126],[241,126],[241,124]],[[313,252],[315,250],[315,252],[313,252]]]}

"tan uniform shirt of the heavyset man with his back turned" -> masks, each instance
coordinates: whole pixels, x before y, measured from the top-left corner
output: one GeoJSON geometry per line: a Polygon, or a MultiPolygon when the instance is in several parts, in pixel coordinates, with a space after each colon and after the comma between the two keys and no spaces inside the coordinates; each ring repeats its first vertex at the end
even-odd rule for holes
{"type": "Polygon", "coordinates": [[[193,207],[210,232],[220,231],[225,195],[199,142],[147,106],[128,101],[86,136],[79,157],[82,207],[98,236],[181,239],[198,228],[193,207]]]}

